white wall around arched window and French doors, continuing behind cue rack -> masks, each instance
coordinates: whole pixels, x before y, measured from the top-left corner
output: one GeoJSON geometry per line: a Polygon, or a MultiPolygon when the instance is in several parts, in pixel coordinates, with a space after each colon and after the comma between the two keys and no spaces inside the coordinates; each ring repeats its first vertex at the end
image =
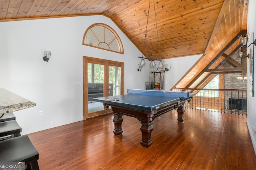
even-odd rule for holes
{"type": "MultiPolygon", "coordinates": [[[[145,89],[148,68],[137,71],[141,52],[105,16],[0,22],[0,87],[36,103],[36,107],[14,112],[22,134],[83,119],[83,87],[74,86],[74,82],[83,83],[83,56],[124,62],[125,93],[127,88],[145,89]],[[84,32],[94,23],[107,24],[117,32],[124,54],[82,45],[84,32]],[[44,50],[52,51],[48,63],[42,59],[44,50]]],[[[184,73],[176,71],[180,61],[194,63],[197,59],[170,59],[168,64],[177,66],[166,73],[170,83],[166,89],[191,67],[183,67],[184,73]]]]}

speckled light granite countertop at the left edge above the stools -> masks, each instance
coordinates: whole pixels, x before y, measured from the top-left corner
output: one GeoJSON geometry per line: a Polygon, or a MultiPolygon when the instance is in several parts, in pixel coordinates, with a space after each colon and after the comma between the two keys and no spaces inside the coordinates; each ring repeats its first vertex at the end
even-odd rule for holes
{"type": "Polygon", "coordinates": [[[0,88],[0,114],[19,111],[33,106],[36,106],[36,103],[0,88]]]}

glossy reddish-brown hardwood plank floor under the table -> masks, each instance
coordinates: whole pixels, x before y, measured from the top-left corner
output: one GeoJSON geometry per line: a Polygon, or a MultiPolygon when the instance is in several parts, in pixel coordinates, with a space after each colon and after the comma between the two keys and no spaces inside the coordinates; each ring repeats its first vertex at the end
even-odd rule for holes
{"type": "Polygon", "coordinates": [[[154,119],[153,144],[140,145],[140,122],[123,116],[113,133],[112,114],[28,134],[40,170],[255,170],[246,115],[186,109],[154,119]]]}

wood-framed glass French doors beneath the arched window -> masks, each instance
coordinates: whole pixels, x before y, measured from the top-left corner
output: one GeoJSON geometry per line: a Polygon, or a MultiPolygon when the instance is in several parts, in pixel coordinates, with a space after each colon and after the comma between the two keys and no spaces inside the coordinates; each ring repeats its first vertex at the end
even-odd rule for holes
{"type": "Polygon", "coordinates": [[[124,94],[124,63],[85,56],[83,63],[84,119],[112,112],[92,99],[124,94]]]}

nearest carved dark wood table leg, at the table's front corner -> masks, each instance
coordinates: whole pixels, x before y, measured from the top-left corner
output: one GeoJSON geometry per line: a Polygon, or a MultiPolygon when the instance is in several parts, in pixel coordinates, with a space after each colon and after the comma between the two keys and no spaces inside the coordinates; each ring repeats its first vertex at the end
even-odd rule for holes
{"type": "Polygon", "coordinates": [[[153,130],[152,123],[152,121],[149,123],[140,122],[140,131],[142,132],[142,140],[140,144],[146,148],[148,148],[153,143],[151,139],[151,132],[153,130]]]}

